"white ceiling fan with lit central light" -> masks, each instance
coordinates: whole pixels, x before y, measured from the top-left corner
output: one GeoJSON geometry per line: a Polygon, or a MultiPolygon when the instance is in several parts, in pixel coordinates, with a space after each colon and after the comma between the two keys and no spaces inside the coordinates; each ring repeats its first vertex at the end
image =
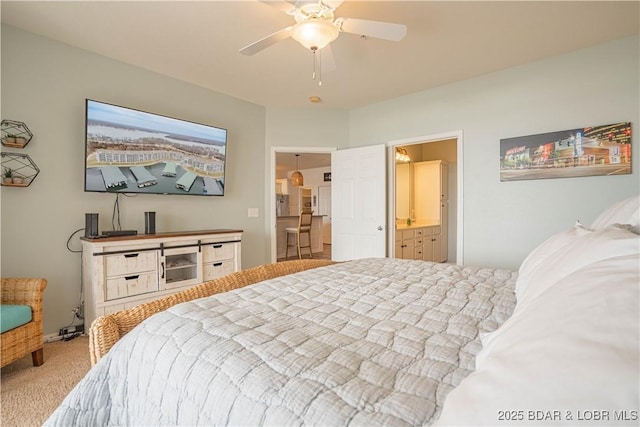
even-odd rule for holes
{"type": "Polygon", "coordinates": [[[400,41],[407,34],[407,27],[401,24],[343,17],[334,19],[335,10],[344,0],[297,0],[295,4],[284,0],[261,1],[293,16],[296,23],[243,47],[240,49],[243,55],[254,55],[289,37],[315,53],[338,38],[341,32],[390,41],[400,41]]]}

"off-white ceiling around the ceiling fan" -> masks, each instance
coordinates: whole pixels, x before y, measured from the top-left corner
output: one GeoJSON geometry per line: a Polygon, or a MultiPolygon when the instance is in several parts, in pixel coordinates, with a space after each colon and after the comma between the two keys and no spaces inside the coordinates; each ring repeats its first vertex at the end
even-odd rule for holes
{"type": "Polygon", "coordinates": [[[238,50],[293,23],[247,1],[6,1],[3,23],[274,107],[349,109],[639,32],[638,1],[346,1],[336,16],[407,25],[400,42],[342,33],[336,69],[312,80],[292,39],[238,50]],[[309,96],[322,102],[311,104],[309,96]]]}

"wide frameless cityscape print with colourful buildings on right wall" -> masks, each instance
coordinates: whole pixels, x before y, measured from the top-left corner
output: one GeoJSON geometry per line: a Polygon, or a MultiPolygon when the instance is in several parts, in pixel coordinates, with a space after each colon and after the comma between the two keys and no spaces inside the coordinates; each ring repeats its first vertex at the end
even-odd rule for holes
{"type": "Polygon", "coordinates": [[[500,140],[500,181],[630,173],[630,122],[500,140]]]}

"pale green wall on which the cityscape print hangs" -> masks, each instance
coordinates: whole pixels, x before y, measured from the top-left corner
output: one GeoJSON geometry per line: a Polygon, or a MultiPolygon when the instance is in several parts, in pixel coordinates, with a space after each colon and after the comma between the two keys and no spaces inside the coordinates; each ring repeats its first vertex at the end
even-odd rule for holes
{"type": "Polygon", "coordinates": [[[518,268],[543,239],[640,187],[639,38],[350,111],[350,146],[463,132],[464,259],[518,268]],[[500,182],[500,139],[632,122],[632,174],[500,182]]]}

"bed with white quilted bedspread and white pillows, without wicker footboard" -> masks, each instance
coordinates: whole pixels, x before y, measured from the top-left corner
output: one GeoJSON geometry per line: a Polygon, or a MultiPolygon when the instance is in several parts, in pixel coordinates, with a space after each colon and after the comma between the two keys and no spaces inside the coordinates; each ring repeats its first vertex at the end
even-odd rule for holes
{"type": "Polygon", "coordinates": [[[364,259],[181,302],[45,424],[637,425],[638,203],[518,271],[364,259]]]}

